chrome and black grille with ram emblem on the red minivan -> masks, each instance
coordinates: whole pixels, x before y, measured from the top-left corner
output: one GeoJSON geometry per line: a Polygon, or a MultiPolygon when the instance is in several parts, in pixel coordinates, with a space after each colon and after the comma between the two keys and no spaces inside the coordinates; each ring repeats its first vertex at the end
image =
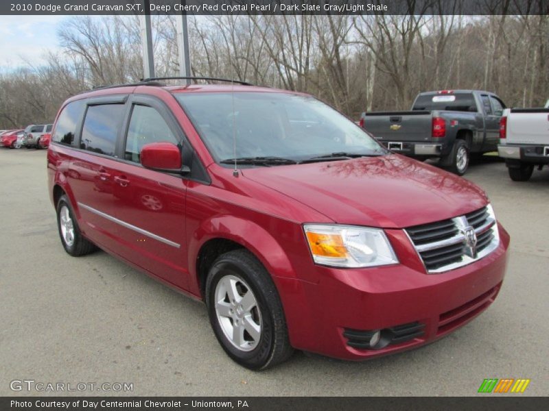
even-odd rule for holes
{"type": "Polygon", "coordinates": [[[406,233],[428,273],[471,264],[495,250],[500,242],[491,206],[454,219],[408,227],[406,233]]]}

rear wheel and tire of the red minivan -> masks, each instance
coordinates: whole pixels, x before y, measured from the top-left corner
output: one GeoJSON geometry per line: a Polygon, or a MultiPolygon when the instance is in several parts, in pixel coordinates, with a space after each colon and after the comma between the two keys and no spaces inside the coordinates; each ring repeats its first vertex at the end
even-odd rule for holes
{"type": "Polygon", "coordinates": [[[82,236],[74,215],[69,199],[62,195],[57,202],[57,227],[63,248],[73,257],[93,253],[97,247],[82,236]]]}

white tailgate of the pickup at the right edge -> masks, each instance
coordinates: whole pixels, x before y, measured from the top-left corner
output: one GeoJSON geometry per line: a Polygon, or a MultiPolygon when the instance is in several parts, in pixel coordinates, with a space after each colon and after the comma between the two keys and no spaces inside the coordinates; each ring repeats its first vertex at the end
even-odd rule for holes
{"type": "Polygon", "coordinates": [[[507,142],[549,145],[549,108],[513,108],[507,117],[507,142]]]}

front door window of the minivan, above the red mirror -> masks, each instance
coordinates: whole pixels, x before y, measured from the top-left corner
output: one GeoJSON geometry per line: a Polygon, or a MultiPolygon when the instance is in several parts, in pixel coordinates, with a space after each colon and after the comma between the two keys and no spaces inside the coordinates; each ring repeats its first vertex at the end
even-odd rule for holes
{"type": "Polygon", "coordinates": [[[173,142],[178,144],[176,136],[174,136],[159,112],[146,105],[134,105],[128,127],[124,158],[139,162],[141,147],[149,142],[173,142]]]}

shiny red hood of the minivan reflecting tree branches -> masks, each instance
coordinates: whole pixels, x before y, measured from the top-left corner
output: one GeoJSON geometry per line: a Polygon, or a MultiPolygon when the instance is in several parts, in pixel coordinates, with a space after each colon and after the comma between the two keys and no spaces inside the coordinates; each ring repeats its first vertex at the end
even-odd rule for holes
{"type": "Polygon", "coordinates": [[[340,224],[410,227],[466,214],[488,202],[466,179],[395,154],[242,172],[340,224]]]}

